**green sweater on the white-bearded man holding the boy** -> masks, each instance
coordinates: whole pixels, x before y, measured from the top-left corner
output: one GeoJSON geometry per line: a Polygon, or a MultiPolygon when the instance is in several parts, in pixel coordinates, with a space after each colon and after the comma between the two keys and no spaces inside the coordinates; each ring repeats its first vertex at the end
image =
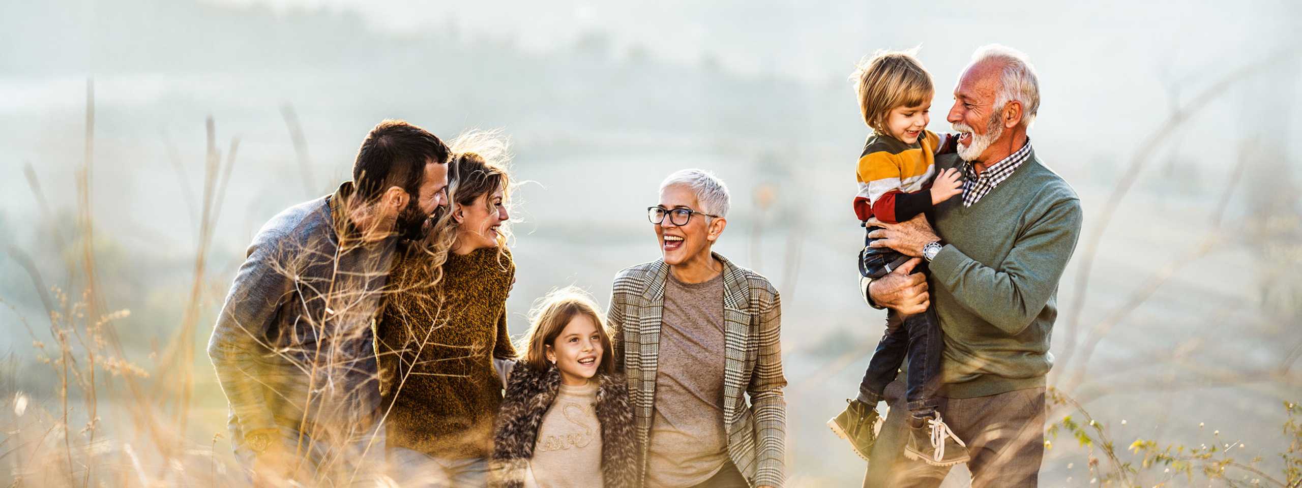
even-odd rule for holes
{"type": "MultiPolygon", "coordinates": [[[[961,165],[940,156],[937,170],[961,165]]],[[[1030,154],[971,207],[936,207],[944,247],[931,262],[932,305],[945,332],[945,396],[1044,386],[1053,364],[1059,278],[1081,234],[1081,200],[1030,154]]]]}

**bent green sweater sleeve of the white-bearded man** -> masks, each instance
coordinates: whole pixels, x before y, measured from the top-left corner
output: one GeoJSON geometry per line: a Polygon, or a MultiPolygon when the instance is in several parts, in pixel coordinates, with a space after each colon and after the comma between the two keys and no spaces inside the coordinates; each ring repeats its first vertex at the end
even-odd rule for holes
{"type": "Polygon", "coordinates": [[[1081,203],[1064,199],[1013,243],[1000,269],[945,245],[931,262],[931,276],[983,320],[1018,334],[1044,310],[1079,237],[1081,203]]]}

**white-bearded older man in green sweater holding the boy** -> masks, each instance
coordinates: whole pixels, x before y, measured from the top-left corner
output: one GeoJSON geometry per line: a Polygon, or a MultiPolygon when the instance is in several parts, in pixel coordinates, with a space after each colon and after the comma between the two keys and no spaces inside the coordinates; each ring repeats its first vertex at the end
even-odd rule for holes
{"type": "MultiPolygon", "coordinates": [[[[936,207],[935,230],[926,219],[874,223],[883,226],[874,245],[930,262],[930,286],[906,265],[867,284],[865,295],[896,314],[935,303],[945,332],[941,410],[971,453],[973,487],[1035,487],[1044,454],[1049,334],[1059,278],[1081,233],[1081,203],[1031,148],[1026,129],[1039,104],[1039,81],[1023,53],[976,49],[948,116],[961,160],[936,160],[937,170],[962,169],[962,198],[936,207]]],[[[898,422],[896,410],[888,424],[898,422]]],[[[866,485],[936,487],[945,478],[948,467],[898,458],[891,465],[898,448],[878,444],[872,459],[885,461],[876,467],[889,472],[884,481],[870,472],[866,485]]]]}

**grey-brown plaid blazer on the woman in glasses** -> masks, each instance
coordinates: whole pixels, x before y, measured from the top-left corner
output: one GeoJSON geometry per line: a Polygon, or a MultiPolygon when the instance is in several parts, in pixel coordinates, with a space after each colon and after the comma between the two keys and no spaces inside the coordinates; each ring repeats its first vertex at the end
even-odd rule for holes
{"type": "MultiPolygon", "coordinates": [[[[728,454],[751,487],[785,481],[786,401],[783,388],[781,305],[777,290],[759,273],[724,265],[724,432],[728,454]],[[742,397],[746,393],[750,402],[742,397]]],[[[646,480],[647,448],[655,409],[661,310],[669,265],[663,259],[615,276],[609,327],[615,366],[629,381],[637,427],[638,480],[646,480]]]]}

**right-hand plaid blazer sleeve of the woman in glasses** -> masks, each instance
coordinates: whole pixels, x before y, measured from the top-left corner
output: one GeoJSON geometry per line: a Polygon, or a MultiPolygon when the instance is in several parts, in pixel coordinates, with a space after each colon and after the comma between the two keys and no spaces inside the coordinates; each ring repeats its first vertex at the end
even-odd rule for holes
{"type": "Polygon", "coordinates": [[[783,388],[783,306],[781,297],[772,290],[772,301],[759,310],[759,355],[750,376],[746,393],[750,396],[751,415],[755,418],[755,487],[779,488],[786,480],[786,400],[783,388]]]}

